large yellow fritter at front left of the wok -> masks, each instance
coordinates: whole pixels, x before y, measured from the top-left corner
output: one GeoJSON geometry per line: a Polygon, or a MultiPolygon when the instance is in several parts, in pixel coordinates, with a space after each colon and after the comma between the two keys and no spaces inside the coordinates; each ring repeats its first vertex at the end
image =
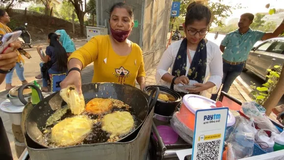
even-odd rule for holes
{"type": "Polygon", "coordinates": [[[94,123],[84,115],[66,118],[52,128],[51,142],[58,146],[75,145],[91,133],[94,123]]]}

